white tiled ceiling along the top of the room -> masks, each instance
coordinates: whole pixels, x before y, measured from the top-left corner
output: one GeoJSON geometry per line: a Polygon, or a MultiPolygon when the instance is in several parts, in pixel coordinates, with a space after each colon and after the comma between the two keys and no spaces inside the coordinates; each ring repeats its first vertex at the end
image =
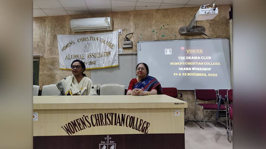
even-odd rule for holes
{"type": "Polygon", "coordinates": [[[33,0],[33,17],[193,7],[232,0],[33,0]]]}

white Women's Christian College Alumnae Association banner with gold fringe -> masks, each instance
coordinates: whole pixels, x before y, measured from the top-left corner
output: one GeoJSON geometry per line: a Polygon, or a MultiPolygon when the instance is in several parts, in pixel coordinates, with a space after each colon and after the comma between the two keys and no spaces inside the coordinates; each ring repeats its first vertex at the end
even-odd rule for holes
{"type": "Polygon", "coordinates": [[[57,35],[59,69],[71,70],[75,59],[86,69],[118,66],[118,31],[86,35],[57,35]]]}

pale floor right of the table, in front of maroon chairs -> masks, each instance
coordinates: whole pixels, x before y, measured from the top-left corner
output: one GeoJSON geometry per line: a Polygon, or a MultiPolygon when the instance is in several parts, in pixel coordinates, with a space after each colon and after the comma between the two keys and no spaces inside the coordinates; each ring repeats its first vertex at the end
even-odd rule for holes
{"type": "Polygon", "coordinates": [[[185,126],[185,148],[232,149],[233,141],[228,142],[226,129],[219,124],[205,124],[203,130],[195,122],[188,122],[185,126]]]}

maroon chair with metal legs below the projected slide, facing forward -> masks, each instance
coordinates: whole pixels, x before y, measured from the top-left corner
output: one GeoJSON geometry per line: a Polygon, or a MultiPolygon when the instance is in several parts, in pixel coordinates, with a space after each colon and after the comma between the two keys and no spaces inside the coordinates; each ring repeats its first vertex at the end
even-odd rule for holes
{"type": "MultiPolygon", "coordinates": [[[[203,128],[200,126],[200,128],[205,128],[205,116],[204,111],[217,111],[218,104],[217,104],[217,93],[214,89],[195,89],[195,107],[194,107],[194,121],[200,126],[200,124],[196,120],[196,106],[200,106],[202,108],[202,117],[203,117],[203,128]],[[197,100],[203,100],[203,101],[212,101],[212,103],[198,103],[197,100]],[[215,100],[215,103],[213,101],[215,100]]],[[[226,111],[226,107],[224,105],[220,106],[219,111],[226,111]]]]}

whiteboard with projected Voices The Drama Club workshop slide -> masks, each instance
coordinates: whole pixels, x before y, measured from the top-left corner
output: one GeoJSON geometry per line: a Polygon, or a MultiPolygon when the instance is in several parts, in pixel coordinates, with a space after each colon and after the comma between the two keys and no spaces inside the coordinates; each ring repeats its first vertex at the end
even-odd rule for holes
{"type": "Polygon", "coordinates": [[[228,39],[184,39],[138,42],[137,61],[162,87],[178,90],[230,89],[228,39]]]}

